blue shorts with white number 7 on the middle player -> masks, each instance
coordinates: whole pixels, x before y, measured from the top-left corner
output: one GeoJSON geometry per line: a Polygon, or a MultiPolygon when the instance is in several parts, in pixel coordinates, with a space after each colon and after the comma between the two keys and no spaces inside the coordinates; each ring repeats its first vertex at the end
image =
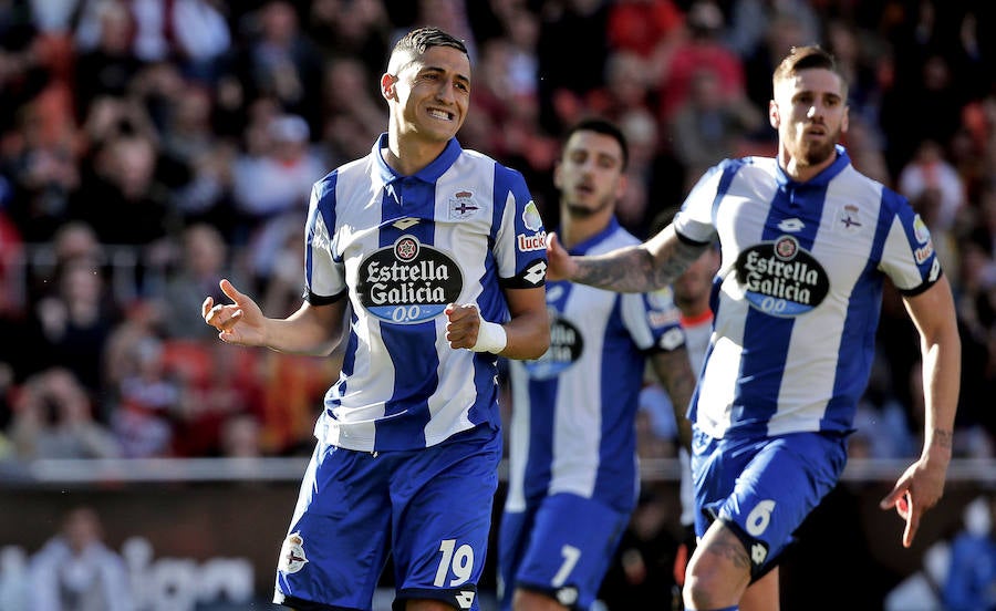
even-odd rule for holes
{"type": "Polygon", "coordinates": [[[511,609],[516,588],[589,609],[629,521],[629,512],[572,494],[506,511],[498,532],[500,609],[511,609]]]}

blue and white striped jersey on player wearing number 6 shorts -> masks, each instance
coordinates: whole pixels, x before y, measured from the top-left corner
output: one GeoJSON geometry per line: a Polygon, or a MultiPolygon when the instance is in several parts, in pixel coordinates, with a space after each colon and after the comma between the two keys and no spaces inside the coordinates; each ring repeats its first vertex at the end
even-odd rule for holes
{"type": "Polygon", "coordinates": [[[850,432],[888,276],[916,293],[941,276],[930,231],[843,147],[807,183],[776,159],[727,159],[689,193],[674,227],[719,239],[714,333],[689,415],[713,437],[850,432]]]}

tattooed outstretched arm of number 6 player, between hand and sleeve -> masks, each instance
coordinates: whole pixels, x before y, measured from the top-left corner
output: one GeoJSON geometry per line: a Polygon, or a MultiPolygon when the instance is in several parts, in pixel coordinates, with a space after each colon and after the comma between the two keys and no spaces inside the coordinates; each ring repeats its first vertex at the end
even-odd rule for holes
{"type": "Polygon", "coordinates": [[[674,281],[706,248],[708,245],[691,245],[672,237],[656,256],[646,245],[640,245],[598,257],[578,257],[578,272],[571,280],[616,292],[654,291],[674,281]]]}

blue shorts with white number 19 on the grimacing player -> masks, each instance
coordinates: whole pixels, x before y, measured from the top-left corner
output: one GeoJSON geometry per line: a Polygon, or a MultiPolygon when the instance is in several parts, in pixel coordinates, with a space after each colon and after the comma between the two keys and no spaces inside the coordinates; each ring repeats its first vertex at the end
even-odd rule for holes
{"type": "Polygon", "coordinates": [[[319,442],[280,551],[273,602],[369,610],[392,555],[395,608],[414,598],[478,609],[500,459],[501,434],[485,427],[378,454],[319,442]]]}

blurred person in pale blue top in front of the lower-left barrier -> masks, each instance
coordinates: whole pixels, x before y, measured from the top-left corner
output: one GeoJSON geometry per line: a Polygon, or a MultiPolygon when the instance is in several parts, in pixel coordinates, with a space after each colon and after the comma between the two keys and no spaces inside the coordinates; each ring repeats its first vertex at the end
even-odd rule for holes
{"type": "Polygon", "coordinates": [[[66,514],[60,532],[31,557],[33,611],[135,611],[125,563],[103,537],[94,509],[66,514]]]}

